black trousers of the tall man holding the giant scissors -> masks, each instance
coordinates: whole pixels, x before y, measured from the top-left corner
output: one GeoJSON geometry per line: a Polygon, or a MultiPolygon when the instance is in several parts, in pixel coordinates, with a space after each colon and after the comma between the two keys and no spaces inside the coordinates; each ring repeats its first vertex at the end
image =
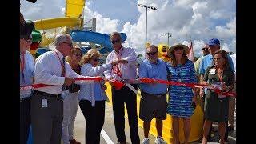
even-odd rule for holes
{"type": "MultiPolygon", "coordinates": [[[[137,86],[134,87],[136,88],[137,86]]],[[[126,103],[128,114],[131,142],[133,144],[138,144],[140,142],[138,137],[138,114],[136,97],[137,95],[134,94],[134,92],[127,86],[123,86],[121,90],[115,90],[114,87],[112,87],[114,126],[118,142],[126,142],[124,103],[126,103]]]]}

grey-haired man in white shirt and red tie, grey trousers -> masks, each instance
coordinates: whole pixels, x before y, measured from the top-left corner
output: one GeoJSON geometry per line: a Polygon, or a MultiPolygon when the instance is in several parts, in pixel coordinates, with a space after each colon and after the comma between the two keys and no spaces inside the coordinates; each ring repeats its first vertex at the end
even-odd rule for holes
{"type": "Polygon", "coordinates": [[[47,85],[34,90],[31,99],[33,143],[60,144],[62,136],[63,100],[74,78],[82,77],[65,62],[73,48],[68,34],[59,34],[54,41],[56,50],[40,55],[35,62],[35,83],[47,85]]]}

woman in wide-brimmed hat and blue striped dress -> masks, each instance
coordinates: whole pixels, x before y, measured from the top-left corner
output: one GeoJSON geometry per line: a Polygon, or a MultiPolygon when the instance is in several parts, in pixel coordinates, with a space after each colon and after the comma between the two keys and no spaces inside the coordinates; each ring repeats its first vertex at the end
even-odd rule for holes
{"type": "MultiPolygon", "coordinates": [[[[171,81],[197,82],[194,64],[186,56],[189,51],[188,46],[182,44],[171,46],[167,51],[170,56],[168,67],[171,73],[171,81]]],[[[183,119],[185,143],[189,140],[190,117],[194,114],[192,103],[194,102],[195,105],[197,103],[194,91],[194,89],[192,90],[192,88],[186,86],[170,86],[167,114],[170,114],[173,118],[174,144],[179,143],[179,118],[183,119]]]]}

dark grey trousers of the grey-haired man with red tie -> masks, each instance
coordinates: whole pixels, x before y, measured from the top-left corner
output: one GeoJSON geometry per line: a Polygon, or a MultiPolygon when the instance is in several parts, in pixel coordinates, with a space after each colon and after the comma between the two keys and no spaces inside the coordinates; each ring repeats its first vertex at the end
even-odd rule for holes
{"type": "Polygon", "coordinates": [[[51,94],[34,92],[30,102],[34,144],[60,144],[62,138],[63,100],[51,94]],[[42,107],[47,99],[47,107],[42,107]]]}

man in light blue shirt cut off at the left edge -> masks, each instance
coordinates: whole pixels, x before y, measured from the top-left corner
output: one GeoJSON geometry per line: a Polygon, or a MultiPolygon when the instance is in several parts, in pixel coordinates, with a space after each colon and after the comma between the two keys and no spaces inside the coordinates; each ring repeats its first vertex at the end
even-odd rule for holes
{"type": "MultiPolygon", "coordinates": [[[[28,51],[32,42],[34,23],[22,22],[20,26],[20,86],[33,83],[34,58],[28,51]]],[[[20,90],[20,143],[26,144],[30,132],[30,99],[31,90],[20,90]]]]}

